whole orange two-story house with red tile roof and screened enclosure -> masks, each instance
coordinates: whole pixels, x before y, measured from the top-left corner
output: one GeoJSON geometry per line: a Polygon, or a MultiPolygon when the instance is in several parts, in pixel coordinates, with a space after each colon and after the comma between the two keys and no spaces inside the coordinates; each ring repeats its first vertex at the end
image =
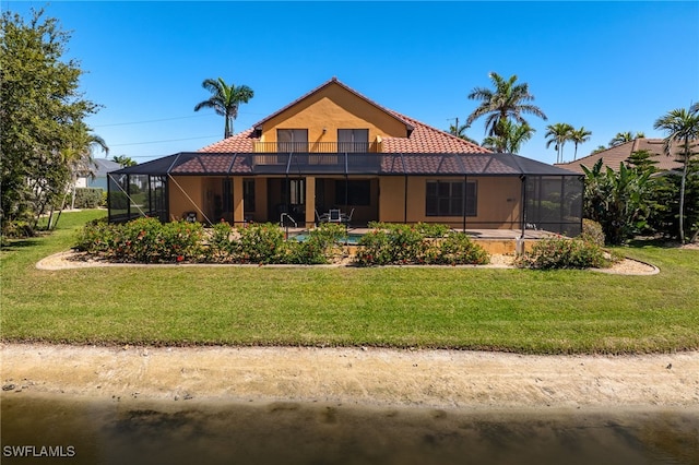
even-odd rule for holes
{"type": "Polygon", "coordinates": [[[332,79],[199,152],[110,174],[109,218],[443,223],[578,235],[579,174],[497,154],[389,110],[332,79]],[[149,186],[139,189],[138,186],[149,186]],[[125,201],[128,198],[130,201],[125,201]],[[288,216],[287,216],[288,215],[288,216]]]}

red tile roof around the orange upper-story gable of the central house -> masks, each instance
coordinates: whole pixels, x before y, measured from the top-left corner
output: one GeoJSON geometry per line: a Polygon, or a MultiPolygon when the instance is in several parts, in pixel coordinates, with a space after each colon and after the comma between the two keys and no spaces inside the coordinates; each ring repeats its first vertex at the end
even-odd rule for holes
{"type": "Polygon", "coordinates": [[[433,128],[428,124],[419,122],[413,118],[406,117],[405,115],[401,115],[396,111],[384,108],[375,102],[368,99],[364,95],[354,91],[353,88],[346,86],[341,83],[336,79],[332,79],[319,87],[312,90],[306,95],[297,98],[289,105],[285,106],[281,110],[272,114],[271,116],[264,118],[263,120],[256,123],[252,128],[235,134],[228,139],[224,139],[223,141],[215,142],[211,145],[208,145],[200,150],[200,152],[230,152],[230,153],[251,153],[253,152],[254,142],[259,141],[259,138],[254,136],[256,128],[260,127],[264,121],[271,119],[275,115],[284,111],[285,109],[296,105],[298,102],[307,98],[308,96],[315,94],[320,91],[324,86],[335,83],[341,85],[343,88],[348,92],[355,94],[359,98],[368,102],[375,107],[386,111],[391,115],[393,118],[405,123],[408,129],[410,135],[407,138],[383,138],[383,153],[490,153],[487,148],[484,148],[479,145],[476,145],[472,142],[464,141],[463,139],[459,139],[448,132],[441,131],[439,129],[433,128]]]}

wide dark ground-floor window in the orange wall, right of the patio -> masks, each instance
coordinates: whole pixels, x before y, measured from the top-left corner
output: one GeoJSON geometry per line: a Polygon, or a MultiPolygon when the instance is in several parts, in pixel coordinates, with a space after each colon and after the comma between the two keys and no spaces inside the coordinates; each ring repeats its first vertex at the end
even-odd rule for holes
{"type": "MultiPolygon", "coordinates": [[[[425,214],[427,216],[463,216],[463,181],[427,181],[425,214]]],[[[476,183],[466,182],[466,216],[476,215],[476,183]]]]}

